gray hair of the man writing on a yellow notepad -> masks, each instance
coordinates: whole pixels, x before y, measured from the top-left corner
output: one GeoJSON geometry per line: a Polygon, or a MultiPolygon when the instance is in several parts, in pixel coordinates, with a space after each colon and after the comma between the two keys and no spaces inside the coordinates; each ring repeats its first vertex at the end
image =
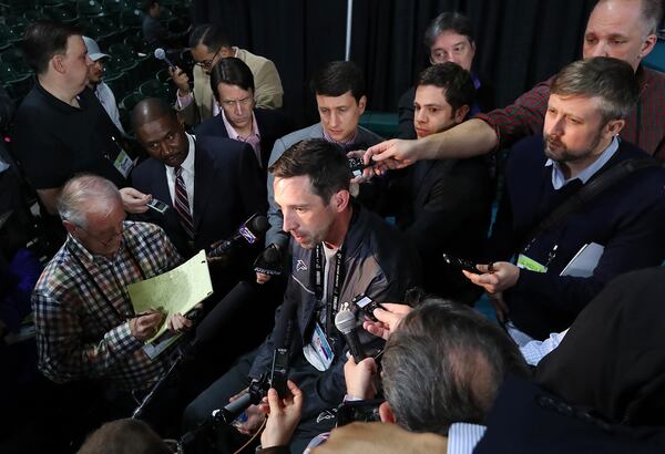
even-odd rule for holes
{"type": "Polygon", "coordinates": [[[113,204],[122,204],[117,187],[96,175],[76,175],[64,184],[58,198],[62,220],[86,228],[90,213],[109,213],[113,204]]]}

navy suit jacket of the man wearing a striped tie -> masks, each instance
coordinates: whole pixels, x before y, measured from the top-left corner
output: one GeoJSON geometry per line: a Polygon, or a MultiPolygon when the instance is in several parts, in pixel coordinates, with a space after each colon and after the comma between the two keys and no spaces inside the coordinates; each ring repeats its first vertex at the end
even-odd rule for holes
{"type": "Polygon", "coordinates": [[[149,210],[147,220],[160,225],[177,250],[190,257],[211,244],[228,238],[254,213],[265,213],[266,193],[252,147],[219,137],[195,141],[193,247],[173,208],[162,162],[149,158],[132,173],[133,186],[170,206],[163,215],[149,210]]]}

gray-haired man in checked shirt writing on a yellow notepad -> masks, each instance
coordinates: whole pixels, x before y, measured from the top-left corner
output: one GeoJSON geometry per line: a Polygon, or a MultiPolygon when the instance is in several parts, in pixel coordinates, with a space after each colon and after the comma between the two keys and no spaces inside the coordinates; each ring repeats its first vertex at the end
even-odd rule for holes
{"type": "MultiPolygon", "coordinates": [[[[110,389],[149,389],[167,369],[167,355],[143,350],[164,322],[154,311],[136,316],[126,287],[163,274],[182,259],[164,231],[125,220],[113,183],[99,176],[70,179],[58,210],[65,244],[32,295],[39,369],[54,382],[101,379],[110,389]]],[[[178,331],[191,321],[166,320],[178,331]]]]}

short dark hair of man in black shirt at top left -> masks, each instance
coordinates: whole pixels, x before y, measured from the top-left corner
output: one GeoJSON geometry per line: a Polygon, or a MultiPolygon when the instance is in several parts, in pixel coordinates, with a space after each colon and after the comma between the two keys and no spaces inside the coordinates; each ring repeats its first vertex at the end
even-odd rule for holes
{"type": "Polygon", "coordinates": [[[31,23],[23,34],[25,61],[37,74],[44,74],[53,55],[65,53],[66,41],[74,35],[83,33],[75,27],[52,21],[31,23]]]}

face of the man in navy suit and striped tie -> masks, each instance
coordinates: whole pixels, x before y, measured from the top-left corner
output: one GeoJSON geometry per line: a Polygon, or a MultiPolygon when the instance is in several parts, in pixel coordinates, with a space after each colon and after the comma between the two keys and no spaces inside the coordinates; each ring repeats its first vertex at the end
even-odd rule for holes
{"type": "Polygon", "coordinates": [[[164,115],[136,128],[136,138],[147,154],[170,167],[183,164],[190,141],[183,124],[174,115],[164,115]]]}

